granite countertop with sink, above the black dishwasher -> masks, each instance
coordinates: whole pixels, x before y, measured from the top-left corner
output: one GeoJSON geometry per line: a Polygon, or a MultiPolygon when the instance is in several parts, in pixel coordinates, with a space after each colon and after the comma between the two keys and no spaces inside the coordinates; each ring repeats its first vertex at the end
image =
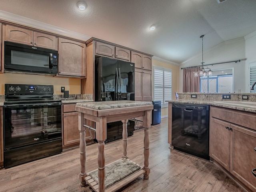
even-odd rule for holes
{"type": "MultiPolygon", "coordinates": [[[[212,106],[218,106],[218,107],[224,107],[229,109],[236,109],[241,111],[248,111],[248,112],[254,112],[256,113],[255,107],[248,107],[248,106],[237,106],[232,104],[220,104],[215,103],[214,101],[199,101],[199,100],[171,100],[166,101],[170,103],[180,103],[180,104],[202,104],[202,105],[212,105],[212,106]]],[[[224,102],[224,101],[223,101],[224,102]]]]}

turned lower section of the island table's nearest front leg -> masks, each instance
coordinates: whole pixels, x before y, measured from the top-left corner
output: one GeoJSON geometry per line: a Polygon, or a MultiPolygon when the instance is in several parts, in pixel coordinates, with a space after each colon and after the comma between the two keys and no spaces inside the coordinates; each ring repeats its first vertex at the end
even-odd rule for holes
{"type": "Polygon", "coordinates": [[[98,141],[98,179],[99,179],[99,192],[105,191],[105,154],[104,154],[104,141],[98,141]]]}

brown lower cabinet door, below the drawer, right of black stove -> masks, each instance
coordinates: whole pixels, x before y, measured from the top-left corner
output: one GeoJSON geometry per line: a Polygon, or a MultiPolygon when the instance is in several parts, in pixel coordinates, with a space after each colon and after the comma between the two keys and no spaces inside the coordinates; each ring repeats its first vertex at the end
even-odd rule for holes
{"type": "Polygon", "coordinates": [[[63,137],[64,145],[80,142],[78,112],[63,114],[63,137]]]}

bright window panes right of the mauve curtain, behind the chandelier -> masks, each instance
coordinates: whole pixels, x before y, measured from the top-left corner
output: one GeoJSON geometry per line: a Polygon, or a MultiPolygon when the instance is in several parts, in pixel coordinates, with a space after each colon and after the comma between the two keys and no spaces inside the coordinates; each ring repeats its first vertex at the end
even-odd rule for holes
{"type": "Polygon", "coordinates": [[[213,70],[212,76],[200,77],[201,93],[232,93],[233,69],[213,70]]]}

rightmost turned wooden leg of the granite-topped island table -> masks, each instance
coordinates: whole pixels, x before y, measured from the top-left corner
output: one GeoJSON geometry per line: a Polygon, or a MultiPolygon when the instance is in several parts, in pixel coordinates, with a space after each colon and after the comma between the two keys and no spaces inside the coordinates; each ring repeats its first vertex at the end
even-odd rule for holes
{"type": "Polygon", "coordinates": [[[150,116],[151,111],[145,111],[145,115],[143,116],[143,127],[144,127],[144,179],[149,179],[150,168],[149,168],[149,127],[150,127],[150,116]]]}

